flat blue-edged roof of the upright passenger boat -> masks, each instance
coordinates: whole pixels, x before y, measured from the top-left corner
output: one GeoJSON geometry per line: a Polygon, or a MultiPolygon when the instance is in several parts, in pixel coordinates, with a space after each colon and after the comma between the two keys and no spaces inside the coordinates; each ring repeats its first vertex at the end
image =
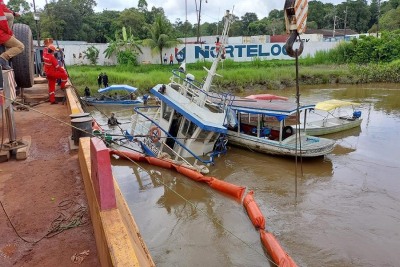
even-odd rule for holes
{"type": "MultiPolygon", "coordinates": [[[[224,100],[221,99],[220,95],[219,97],[217,96],[216,93],[211,93],[208,99],[214,104],[221,104],[224,100]]],[[[235,111],[272,116],[276,117],[279,121],[297,112],[297,104],[290,101],[257,100],[243,97],[233,97],[232,100],[230,100],[230,98],[227,97],[226,103],[228,105],[230,104],[230,108],[235,111]]],[[[299,110],[302,111],[314,108],[314,104],[300,105],[299,110]]]]}

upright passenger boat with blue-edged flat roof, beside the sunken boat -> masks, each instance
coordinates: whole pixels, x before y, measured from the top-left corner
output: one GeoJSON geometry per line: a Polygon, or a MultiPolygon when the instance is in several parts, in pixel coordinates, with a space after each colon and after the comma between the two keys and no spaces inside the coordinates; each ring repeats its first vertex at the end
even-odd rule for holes
{"type": "MultiPolygon", "coordinates": [[[[335,141],[300,132],[286,123],[288,118],[296,116],[314,105],[302,105],[287,101],[268,101],[235,98],[229,109],[233,112],[228,125],[229,144],[253,151],[279,155],[318,157],[332,152],[335,141]]],[[[305,120],[304,116],[304,120],[305,120]]]]}

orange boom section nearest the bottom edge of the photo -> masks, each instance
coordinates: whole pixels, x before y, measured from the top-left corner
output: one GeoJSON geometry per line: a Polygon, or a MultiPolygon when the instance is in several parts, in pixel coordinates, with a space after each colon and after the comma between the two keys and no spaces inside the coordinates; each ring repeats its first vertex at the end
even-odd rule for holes
{"type": "Polygon", "coordinates": [[[260,230],[260,238],[269,256],[277,266],[297,267],[294,260],[285,252],[273,234],[260,230]]]}

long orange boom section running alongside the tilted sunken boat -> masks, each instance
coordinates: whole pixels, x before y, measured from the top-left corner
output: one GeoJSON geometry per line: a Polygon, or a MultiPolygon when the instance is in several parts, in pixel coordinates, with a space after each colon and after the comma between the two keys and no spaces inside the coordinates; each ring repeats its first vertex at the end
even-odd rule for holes
{"type": "Polygon", "coordinates": [[[234,197],[237,201],[241,201],[246,187],[234,185],[225,181],[218,180],[215,177],[204,176],[198,171],[188,167],[175,164],[169,160],[159,159],[155,157],[147,157],[141,153],[130,151],[110,150],[110,155],[117,155],[121,158],[131,159],[138,162],[147,162],[151,165],[165,169],[175,170],[180,174],[197,182],[207,183],[211,188],[234,197]]]}

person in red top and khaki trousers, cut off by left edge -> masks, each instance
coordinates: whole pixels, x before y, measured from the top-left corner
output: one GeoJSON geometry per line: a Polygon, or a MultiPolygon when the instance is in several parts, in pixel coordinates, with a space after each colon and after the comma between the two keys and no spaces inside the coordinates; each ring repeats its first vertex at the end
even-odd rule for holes
{"type": "Polygon", "coordinates": [[[14,37],[12,30],[8,26],[7,17],[2,8],[0,8],[0,44],[8,48],[0,55],[0,65],[3,70],[10,70],[11,67],[8,64],[8,61],[22,53],[25,46],[14,37]]]}

